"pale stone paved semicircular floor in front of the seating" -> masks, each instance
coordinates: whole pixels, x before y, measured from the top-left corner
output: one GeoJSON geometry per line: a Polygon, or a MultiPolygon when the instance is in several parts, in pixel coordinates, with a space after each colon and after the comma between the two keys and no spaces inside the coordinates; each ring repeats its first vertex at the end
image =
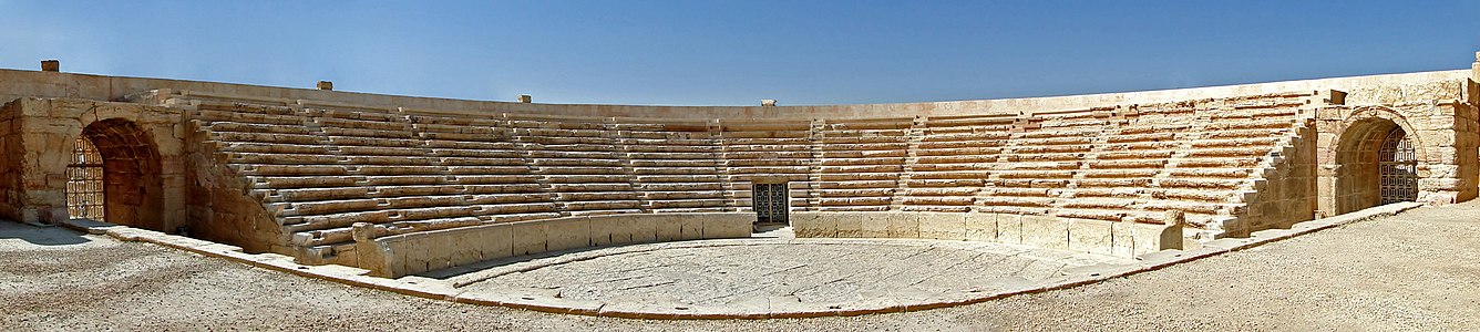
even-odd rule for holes
{"type": "Polygon", "coordinates": [[[1040,283],[1063,269],[1131,263],[1021,245],[916,239],[699,241],[579,255],[583,258],[549,257],[494,267],[481,273],[500,276],[478,277],[485,280],[465,289],[536,288],[561,298],[675,307],[768,300],[850,304],[909,298],[928,304],[1040,283]],[[518,270],[500,272],[512,269],[518,270]]]}

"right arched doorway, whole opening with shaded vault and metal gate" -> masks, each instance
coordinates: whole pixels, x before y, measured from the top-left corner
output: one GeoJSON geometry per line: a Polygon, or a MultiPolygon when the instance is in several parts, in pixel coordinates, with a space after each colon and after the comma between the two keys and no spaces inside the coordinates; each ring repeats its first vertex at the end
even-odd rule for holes
{"type": "Polygon", "coordinates": [[[1413,137],[1387,118],[1347,125],[1336,143],[1335,214],[1418,199],[1419,158],[1413,137]]]}

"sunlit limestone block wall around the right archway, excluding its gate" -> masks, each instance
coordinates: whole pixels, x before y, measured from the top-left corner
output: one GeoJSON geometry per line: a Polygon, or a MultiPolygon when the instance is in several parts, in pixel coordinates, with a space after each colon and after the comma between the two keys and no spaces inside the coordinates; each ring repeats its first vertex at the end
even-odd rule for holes
{"type": "Polygon", "coordinates": [[[1379,202],[1376,149],[1400,128],[1418,158],[1418,201],[1464,202],[1480,181],[1480,86],[1468,78],[1354,89],[1342,105],[1322,108],[1317,128],[1319,214],[1336,215],[1379,202]]]}

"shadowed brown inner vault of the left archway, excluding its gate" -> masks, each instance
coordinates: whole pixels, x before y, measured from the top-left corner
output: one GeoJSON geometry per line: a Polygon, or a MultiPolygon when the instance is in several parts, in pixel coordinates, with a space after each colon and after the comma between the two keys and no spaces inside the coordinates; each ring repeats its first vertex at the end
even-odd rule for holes
{"type": "Polygon", "coordinates": [[[104,218],[166,230],[164,177],[158,145],[138,124],[121,118],[93,121],[81,137],[98,148],[104,168],[104,218]]]}

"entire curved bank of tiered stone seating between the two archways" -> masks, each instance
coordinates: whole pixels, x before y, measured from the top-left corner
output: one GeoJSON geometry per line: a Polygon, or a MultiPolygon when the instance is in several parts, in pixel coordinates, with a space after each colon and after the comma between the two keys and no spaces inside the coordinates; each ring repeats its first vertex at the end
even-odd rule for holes
{"type": "Polygon", "coordinates": [[[1310,94],[878,120],[669,121],[194,100],[218,159],[293,233],[377,235],[598,214],[983,212],[1209,226],[1291,140],[1310,94]]]}

